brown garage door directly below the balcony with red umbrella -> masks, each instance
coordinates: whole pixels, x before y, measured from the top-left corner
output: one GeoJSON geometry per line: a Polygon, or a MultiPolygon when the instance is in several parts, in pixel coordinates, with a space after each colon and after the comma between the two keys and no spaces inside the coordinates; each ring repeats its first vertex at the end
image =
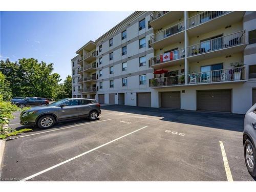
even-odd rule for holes
{"type": "Polygon", "coordinates": [[[162,92],[161,107],[180,109],[180,91],[162,92]]]}

